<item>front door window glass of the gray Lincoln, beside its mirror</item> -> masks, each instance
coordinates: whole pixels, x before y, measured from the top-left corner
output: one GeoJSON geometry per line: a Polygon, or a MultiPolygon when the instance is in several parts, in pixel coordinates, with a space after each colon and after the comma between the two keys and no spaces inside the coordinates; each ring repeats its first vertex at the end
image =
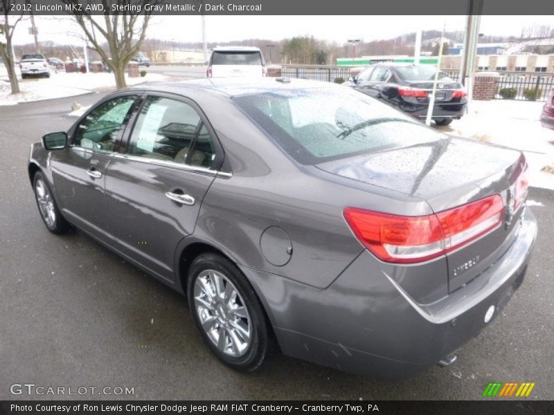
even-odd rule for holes
{"type": "Polygon", "coordinates": [[[115,98],[93,109],[75,131],[73,145],[98,151],[114,151],[120,131],[125,128],[136,96],[115,98]]]}

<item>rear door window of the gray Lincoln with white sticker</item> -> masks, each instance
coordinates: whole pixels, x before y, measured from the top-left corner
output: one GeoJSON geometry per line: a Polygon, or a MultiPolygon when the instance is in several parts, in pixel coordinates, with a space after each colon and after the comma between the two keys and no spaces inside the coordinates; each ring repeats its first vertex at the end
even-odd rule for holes
{"type": "Polygon", "coordinates": [[[129,154],[210,168],[215,149],[193,107],[169,98],[149,97],[136,120],[129,154]]]}

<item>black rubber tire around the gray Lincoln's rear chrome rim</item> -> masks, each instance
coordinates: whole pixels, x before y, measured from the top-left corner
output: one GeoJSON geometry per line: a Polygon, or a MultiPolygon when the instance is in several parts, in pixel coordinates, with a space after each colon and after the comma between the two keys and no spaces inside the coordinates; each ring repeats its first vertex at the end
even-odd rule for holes
{"type": "MultiPolygon", "coordinates": [[[[215,286],[213,285],[208,284],[208,286],[215,288],[215,286]]],[[[206,285],[204,285],[203,287],[206,288],[206,285]]],[[[222,289],[220,289],[220,291],[222,291],[222,289]]],[[[187,294],[188,304],[190,306],[190,311],[193,313],[195,324],[197,325],[202,337],[204,338],[204,341],[206,342],[206,344],[208,344],[208,347],[210,347],[215,356],[217,356],[217,358],[222,360],[222,362],[235,370],[254,371],[258,369],[258,367],[262,365],[262,362],[267,356],[269,344],[268,326],[265,313],[263,311],[262,304],[260,304],[258,296],[253,291],[253,288],[249,284],[246,277],[244,277],[244,274],[242,274],[242,272],[238,269],[238,267],[229,259],[215,253],[205,253],[199,255],[194,259],[193,263],[190,264],[190,269],[188,271],[187,294]],[[218,306],[213,307],[213,312],[211,312],[210,309],[199,302],[198,298],[202,297],[202,295],[198,295],[197,297],[195,297],[195,293],[205,294],[206,291],[202,291],[202,288],[200,288],[201,286],[203,286],[202,281],[199,281],[199,286],[197,287],[196,292],[195,285],[199,278],[202,278],[203,281],[206,282],[208,270],[212,276],[214,274],[219,274],[224,277],[223,279],[226,281],[222,282],[221,287],[224,286],[225,288],[227,288],[229,287],[229,282],[231,282],[231,289],[235,288],[236,292],[238,293],[238,295],[235,296],[235,304],[233,304],[233,306],[236,307],[236,304],[242,304],[247,313],[244,313],[244,310],[241,313],[244,313],[244,315],[247,315],[247,317],[241,318],[233,315],[232,310],[236,310],[240,308],[240,306],[238,308],[229,307],[226,308],[226,311],[224,313],[218,313],[216,311],[217,307],[219,306],[220,308],[222,308],[222,304],[224,304],[224,306],[227,306],[231,303],[231,300],[227,301],[226,299],[224,299],[226,297],[221,297],[220,295],[217,295],[217,291],[213,291],[211,295],[213,299],[216,299],[215,302],[213,302],[212,304],[219,303],[218,306]],[[220,320],[223,319],[222,315],[225,317],[225,319],[235,319],[235,322],[224,322],[221,324],[220,320]],[[204,319],[204,324],[206,327],[209,325],[213,326],[211,331],[208,331],[208,329],[205,330],[202,327],[201,319],[204,319]],[[230,356],[228,353],[225,353],[221,350],[219,341],[215,340],[213,336],[215,336],[215,334],[218,334],[218,338],[223,338],[222,344],[228,344],[228,346],[223,347],[223,349],[228,349],[229,353],[231,353],[233,350],[239,350],[236,346],[236,343],[232,340],[233,336],[231,335],[231,331],[226,331],[225,328],[227,324],[236,324],[236,322],[240,322],[242,326],[247,325],[250,333],[249,344],[247,346],[244,346],[244,350],[241,352],[242,354],[240,356],[230,356]],[[220,333],[223,333],[223,335],[220,335],[220,333]],[[227,340],[229,340],[229,342],[227,342],[227,340]]],[[[225,294],[226,291],[221,295],[225,294]]],[[[204,298],[207,297],[208,295],[204,295],[204,298]]],[[[204,302],[204,304],[206,304],[206,302],[204,302]]],[[[229,327],[230,330],[234,332],[235,338],[240,335],[240,333],[233,329],[232,326],[229,327]]],[[[244,340],[244,338],[242,337],[239,339],[239,341],[240,340],[244,340]]]]}

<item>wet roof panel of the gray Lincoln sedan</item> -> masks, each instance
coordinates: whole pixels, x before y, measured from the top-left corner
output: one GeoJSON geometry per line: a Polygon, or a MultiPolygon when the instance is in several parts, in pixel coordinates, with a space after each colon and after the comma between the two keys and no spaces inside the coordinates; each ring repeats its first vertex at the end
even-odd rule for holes
{"type": "Polygon", "coordinates": [[[240,95],[250,95],[270,91],[294,91],[335,87],[343,88],[343,86],[330,82],[318,82],[298,79],[289,80],[288,78],[279,77],[221,77],[204,78],[201,80],[190,80],[181,82],[157,82],[152,84],[139,84],[136,86],[132,86],[130,89],[141,89],[145,91],[159,91],[177,94],[197,91],[204,94],[212,93],[213,95],[236,97],[240,95]],[[283,80],[286,80],[288,82],[283,82],[283,80]]]}

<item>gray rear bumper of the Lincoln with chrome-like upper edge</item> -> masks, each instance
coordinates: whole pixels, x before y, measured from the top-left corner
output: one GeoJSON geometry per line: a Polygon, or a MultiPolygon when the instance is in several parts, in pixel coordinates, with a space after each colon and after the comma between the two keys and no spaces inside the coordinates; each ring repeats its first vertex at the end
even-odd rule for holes
{"type": "Polygon", "coordinates": [[[276,275],[251,277],[283,353],[384,378],[413,376],[452,353],[485,326],[519,288],[537,234],[530,210],[517,237],[479,277],[434,304],[418,304],[364,251],[326,289],[276,275]]]}

